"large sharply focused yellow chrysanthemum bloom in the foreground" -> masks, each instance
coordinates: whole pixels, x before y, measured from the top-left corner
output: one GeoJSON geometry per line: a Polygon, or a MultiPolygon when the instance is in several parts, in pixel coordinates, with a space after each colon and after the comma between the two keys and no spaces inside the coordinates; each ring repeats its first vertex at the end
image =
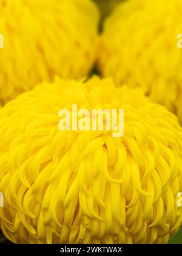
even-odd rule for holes
{"type": "Polygon", "coordinates": [[[13,243],[167,243],[182,222],[182,128],[141,88],[44,82],[0,110],[0,191],[13,243]],[[123,109],[124,136],[60,130],[73,104],[123,109]]]}

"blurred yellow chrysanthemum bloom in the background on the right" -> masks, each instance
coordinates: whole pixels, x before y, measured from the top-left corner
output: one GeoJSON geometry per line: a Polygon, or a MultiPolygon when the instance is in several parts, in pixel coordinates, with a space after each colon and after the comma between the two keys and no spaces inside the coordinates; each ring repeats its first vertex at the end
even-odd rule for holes
{"type": "Polygon", "coordinates": [[[117,85],[142,87],[182,122],[181,11],[181,0],[129,0],[118,5],[104,24],[98,68],[117,85]]]}

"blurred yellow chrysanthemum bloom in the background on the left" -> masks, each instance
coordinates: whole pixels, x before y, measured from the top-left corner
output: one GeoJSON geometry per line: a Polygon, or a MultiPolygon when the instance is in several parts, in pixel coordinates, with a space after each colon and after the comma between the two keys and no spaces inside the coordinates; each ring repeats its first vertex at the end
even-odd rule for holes
{"type": "Polygon", "coordinates": [[[99,21],[91,0],[0,0],[0,13],[2,104],[55,75],[89,74],[99,21]]]}

